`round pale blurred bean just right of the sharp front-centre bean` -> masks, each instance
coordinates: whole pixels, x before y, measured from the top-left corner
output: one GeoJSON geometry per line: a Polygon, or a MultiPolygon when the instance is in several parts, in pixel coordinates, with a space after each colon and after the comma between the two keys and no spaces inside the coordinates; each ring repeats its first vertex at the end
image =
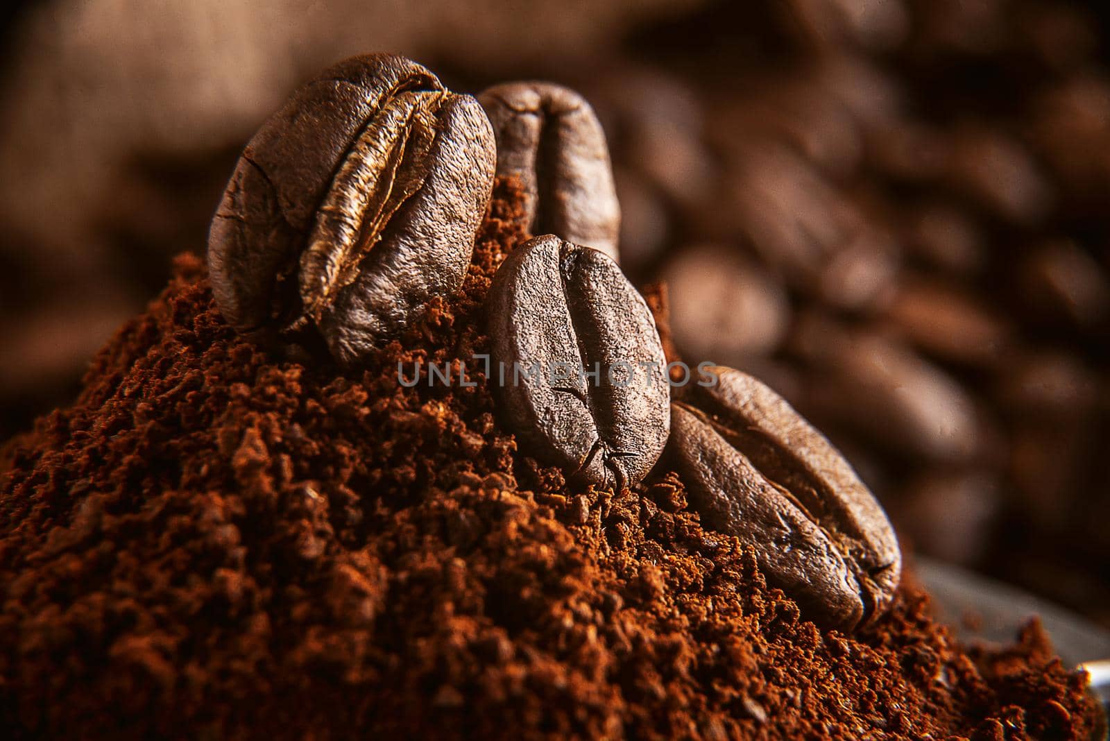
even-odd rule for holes
{"type": "Polygon", "coordinates": [[[685,247],[663,270],[675,343],[693,365],[743,365],[783,339],[789,304],[777,281],[735,250],[685,247]]]}

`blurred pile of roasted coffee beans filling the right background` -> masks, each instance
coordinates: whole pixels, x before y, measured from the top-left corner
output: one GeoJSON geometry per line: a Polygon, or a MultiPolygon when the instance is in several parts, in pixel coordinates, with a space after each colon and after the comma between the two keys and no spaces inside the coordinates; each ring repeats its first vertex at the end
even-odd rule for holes
{"type": "Polygon", "coordinates": [[[1041,1],[731,3],[582,84],[685,354],[787,396],[920,551],[1110,622],[1100,34],[1041,1]]]}

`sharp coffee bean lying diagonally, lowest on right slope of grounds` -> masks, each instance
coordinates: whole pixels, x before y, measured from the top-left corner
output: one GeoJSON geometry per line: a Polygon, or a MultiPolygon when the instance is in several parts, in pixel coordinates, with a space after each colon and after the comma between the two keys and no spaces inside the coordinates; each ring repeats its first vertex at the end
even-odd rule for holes
{"type": "Polygon", "coordinates": [[[894,529],[844,457],[756,378],[716,367],[714,386],[672,404],[673,455],[710,527],[755,550],[767,580],[803,615],[851,630],[894,597],[894,529]]]}

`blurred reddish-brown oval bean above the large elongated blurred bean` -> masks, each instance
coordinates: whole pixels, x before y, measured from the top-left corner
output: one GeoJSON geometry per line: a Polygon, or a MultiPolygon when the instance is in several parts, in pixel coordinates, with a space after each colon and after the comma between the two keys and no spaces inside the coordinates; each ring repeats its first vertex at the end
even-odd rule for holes
{"type": "Polygon", "coordinates": [[[997,365],[1010,342],[1009,325],[952,283],[904,281],[885,317],[924,353],[960,365],[997,365]]]}

